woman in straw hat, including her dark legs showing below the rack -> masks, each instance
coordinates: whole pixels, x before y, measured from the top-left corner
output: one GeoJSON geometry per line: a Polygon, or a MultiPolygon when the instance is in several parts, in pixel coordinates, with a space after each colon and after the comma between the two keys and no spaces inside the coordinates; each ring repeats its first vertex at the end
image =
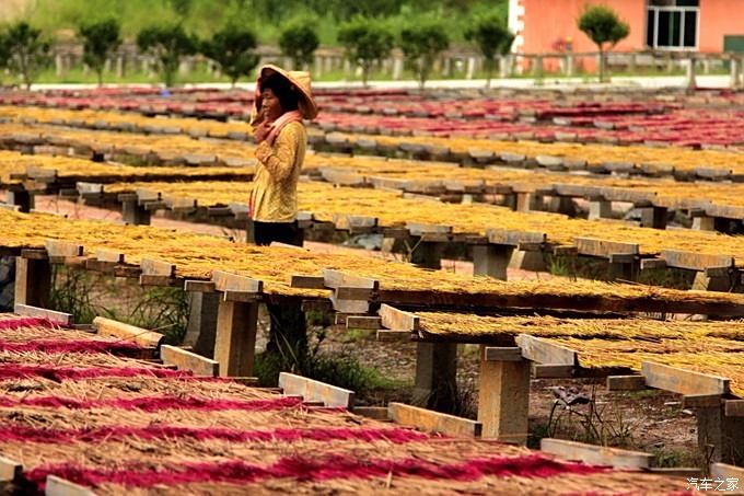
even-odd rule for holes
{"type": "MultiPolygon", "coordinates": [[[[256,138],[256,172],[251,193],[254,242],[302,245],[298,229],[298,178],[307,134],[302,119],[317,115],[310,73],[264,66],[256,81],[251,125],[256,138]]],[[[267,303],[271,319],[264,380],[276,382],[280,370],[304,370],[307,359],[305,315],[300,304],[267,303]]]]}

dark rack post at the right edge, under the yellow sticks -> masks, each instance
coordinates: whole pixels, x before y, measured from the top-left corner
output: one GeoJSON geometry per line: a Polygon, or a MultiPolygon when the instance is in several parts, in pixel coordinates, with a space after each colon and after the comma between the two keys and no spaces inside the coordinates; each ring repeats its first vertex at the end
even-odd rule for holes
{"type": "Polygon", "coordinates": [[[698,447],[713,447],[712,461],[744,464],[744,418],[726,417],[723,408],[697,408],[698,447]]]}

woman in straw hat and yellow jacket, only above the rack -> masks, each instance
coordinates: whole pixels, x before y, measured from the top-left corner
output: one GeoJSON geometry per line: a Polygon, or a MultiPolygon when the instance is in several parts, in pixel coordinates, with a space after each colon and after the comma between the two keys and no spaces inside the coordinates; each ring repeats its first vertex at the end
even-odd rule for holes
{"type": "Polygon", "coordinates": [[[256,173],[251,194],[254,241],[302,244],[298,233],[298,177],[307,134],[302,119],[317,115],[310,73],[264,66],[256,82],[253,118],[256,173]]]}

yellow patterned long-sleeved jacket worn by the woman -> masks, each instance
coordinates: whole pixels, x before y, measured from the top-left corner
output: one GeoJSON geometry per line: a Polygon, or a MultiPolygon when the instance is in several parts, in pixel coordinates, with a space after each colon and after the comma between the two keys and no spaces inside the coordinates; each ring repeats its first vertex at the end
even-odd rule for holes
{"type": "Polygon", "coordinates": [[[298,178],[305,160],[307,134],[302,123],[289,123],[274,146],[256,147],[251,217],[260,222],[292,222],[298,214],[298,178]]]}

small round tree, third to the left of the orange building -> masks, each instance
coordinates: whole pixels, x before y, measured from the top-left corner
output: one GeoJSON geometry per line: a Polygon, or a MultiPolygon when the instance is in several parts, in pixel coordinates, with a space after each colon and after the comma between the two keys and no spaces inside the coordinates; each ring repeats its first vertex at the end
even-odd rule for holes
{"type": "Polygon", "coordinates": [[[367,85],[372,65],[386,57],[393,49],[393,33],[377,21],[354,18],[341,24],[338,42],[346,50],[346,57],[362,68],[362,83],[367,85]]]}

